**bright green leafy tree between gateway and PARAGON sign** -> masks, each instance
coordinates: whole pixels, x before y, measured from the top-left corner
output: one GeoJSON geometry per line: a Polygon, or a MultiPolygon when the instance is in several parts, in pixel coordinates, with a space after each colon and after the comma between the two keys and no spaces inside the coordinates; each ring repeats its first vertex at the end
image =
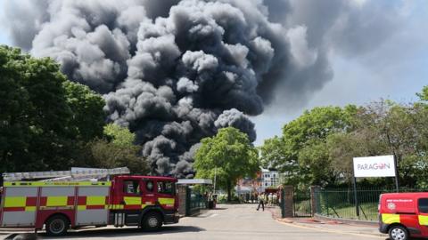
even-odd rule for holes
{"type": "Polygon", "coordinates": [[[318,107],[285,124],[283,136],[265,141],[262,163],[285,173],[285,184],[294,186],[331,184],[336,180],[325,147],[334,132],[349,132],[358,108],[318,107]]]}

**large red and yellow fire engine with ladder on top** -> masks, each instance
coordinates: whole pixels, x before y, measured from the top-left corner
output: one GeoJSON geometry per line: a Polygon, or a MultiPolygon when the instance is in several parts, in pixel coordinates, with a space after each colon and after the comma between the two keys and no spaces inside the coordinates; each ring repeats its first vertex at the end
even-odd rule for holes
{"type": "Polygon", "coordinates": [[[85,226],[155,230],[177,223],[177,179],[128,173],[128,168],[4,173],[0,227],[45,227],[49,236],[62,236],[85,226]]]}

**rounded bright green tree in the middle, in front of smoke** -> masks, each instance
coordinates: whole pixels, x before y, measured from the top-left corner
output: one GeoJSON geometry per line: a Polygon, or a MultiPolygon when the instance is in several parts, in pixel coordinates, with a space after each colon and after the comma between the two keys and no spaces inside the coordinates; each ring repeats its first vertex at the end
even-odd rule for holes
{"type": "Polygon", "coordinates": [[[258,152],[247,134],[233,127],[222,128],[216,136],[202,139],[193,167],[196,178],[213,179],[216,174],[218,186],[226,188],[227,201],[231,201],[236,181],[254,177],[259,171],[258,152]]]}

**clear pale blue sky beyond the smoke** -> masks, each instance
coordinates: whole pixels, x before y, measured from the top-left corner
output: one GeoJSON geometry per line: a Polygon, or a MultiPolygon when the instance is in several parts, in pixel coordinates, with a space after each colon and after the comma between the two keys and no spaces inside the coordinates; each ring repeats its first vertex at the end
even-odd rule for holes
{"type": "MultiPolygon", "coordinates": [[[[350,103],[364,105],[381,99],[416,100],[416,92],[428,84],[428,4],[423,0],[408,2],[411,4],[402,9],[407,15],[402,28],[377,48],[358,56],[340,54],[334,49],[328,52],[333,79],[308,100],[281,111],[268,107],[263,114],[251,117],[256,124],[255,145],[281,135],[284,124],[306,109],[350,103]]],[[[0,5],[3,4],[4,0],[0,0],[0,5]]],[[[1,24],[0,44],[13,45],[1,24]]]]}

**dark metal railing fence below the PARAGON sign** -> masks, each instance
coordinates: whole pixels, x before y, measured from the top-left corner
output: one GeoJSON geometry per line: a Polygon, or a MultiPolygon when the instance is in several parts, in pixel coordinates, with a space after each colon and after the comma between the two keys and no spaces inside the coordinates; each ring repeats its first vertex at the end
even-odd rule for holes
{"type": "MultiPolygon", "coordinates": [[[[425,189],[400,188],[400,192],[417,192],[425,189]]],[[[379,196],[396,192],[395,188],[358,188],[357,203],[352,188],[318,189],[315,191],[315,212],[319,215],[351,219],[377,220],[379,196]],[[357,210],[358,209],[358,210],[357,210]]]]}

